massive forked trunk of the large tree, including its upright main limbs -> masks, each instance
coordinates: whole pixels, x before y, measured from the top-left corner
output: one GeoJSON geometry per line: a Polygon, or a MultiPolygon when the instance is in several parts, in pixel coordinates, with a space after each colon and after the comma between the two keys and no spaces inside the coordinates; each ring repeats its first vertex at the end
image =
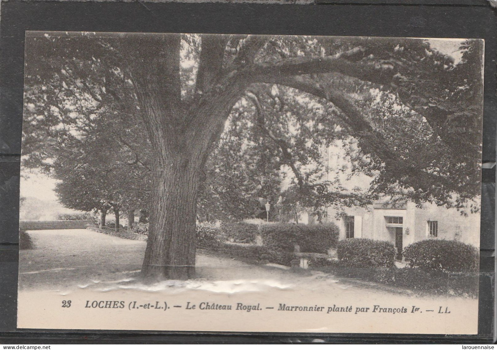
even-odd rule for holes
{"type": "Polygon", "coordinates": [[[205,177],[203,168],[247,86],[247,79],[219,80],[228,41],[223,38],[203,37],[199,94],[188,103],[181,101],[179,35],[151,35],[147,43],[131,41],[121,51],[155,155],[142,267],[147,280],[194,277],[197,191],[205,177]]]}

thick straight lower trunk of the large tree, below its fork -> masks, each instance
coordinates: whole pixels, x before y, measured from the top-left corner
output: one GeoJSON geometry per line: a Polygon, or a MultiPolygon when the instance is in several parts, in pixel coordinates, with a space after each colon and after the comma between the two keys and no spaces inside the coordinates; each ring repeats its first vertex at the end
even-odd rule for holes
{"type": "Polygon", "coordinates": [[[142,273],[149,280],[194,278],[199,169],[184,156],[174,162],[157,161],[153,175],[142,273]]]}

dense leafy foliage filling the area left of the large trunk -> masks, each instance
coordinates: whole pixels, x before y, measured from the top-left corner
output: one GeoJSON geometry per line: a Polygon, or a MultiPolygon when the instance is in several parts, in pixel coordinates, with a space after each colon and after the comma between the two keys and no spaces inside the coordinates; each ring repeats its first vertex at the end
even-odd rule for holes
{"type": "MultiPolygon", "coordinates": [[[[68,59],[79,49],[65,47],[60,38],[47,35],[42,40],[61,45],[62,57],[45,51],[45,59],[31,59],[26,65],[30,84],[25,93],[23,165],[60,180],[56,193],[65,207],[100,210],[101,224],[111,208],[116,215],[119,210],[147,209],[150,146],[136,117],[134,95],[128,90],[106,93],[124,76],[109,72],[93,56],[68,59]]],[[[34,52],[47,49],[39,38],[31,44],[34,52]]],[[[29,59],[30,51],[26,54],[29,59]]]]}

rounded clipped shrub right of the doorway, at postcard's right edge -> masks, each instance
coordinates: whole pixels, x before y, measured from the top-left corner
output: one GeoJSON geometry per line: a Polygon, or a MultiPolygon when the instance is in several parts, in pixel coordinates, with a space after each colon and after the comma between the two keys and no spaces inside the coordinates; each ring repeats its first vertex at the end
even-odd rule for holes
{"type": "Polygon", "coordinates": [[[444,272],[478,271],[478,251],[469,244],[446,239],[425,239],[404,249],[409,267],[444,272]]]}

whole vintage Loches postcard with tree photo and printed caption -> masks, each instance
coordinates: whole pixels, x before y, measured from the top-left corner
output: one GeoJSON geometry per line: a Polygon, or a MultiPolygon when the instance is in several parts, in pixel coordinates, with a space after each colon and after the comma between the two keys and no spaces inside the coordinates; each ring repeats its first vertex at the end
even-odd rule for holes
{"type": "Polygon", "coordinates": [[[477,333],[483,40],[25,39],[19,328],[477,333]]]}

